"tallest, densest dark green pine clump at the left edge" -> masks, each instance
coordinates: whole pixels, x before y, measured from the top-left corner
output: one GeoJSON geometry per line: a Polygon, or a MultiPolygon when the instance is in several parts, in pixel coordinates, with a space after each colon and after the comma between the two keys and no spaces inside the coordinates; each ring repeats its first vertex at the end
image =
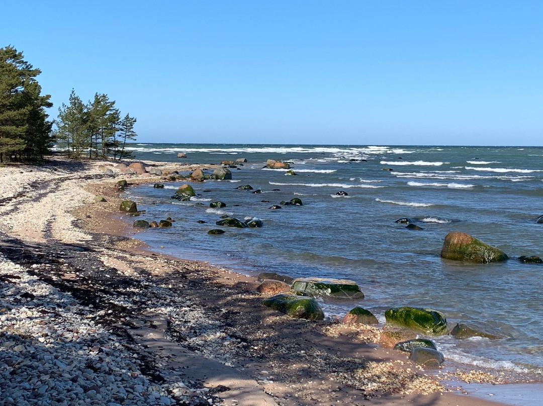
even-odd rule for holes
{"type": "Polygon", "coordinates": [[[0,162],[41,159],[52,146],[45,108],[53,104],[41,94],[40,73],[22,52],[0,48],[0,162]]]}

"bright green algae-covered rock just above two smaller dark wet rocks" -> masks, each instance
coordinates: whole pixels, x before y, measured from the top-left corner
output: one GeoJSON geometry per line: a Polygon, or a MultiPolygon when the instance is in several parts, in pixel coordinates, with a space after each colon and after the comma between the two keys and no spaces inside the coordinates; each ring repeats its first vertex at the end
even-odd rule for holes
{"type": "Polygon", "coordinates": [[[420,307],[393,307],[384,312],[387,325],[406,327],[413,331],[437,337],[449,334],[447,320],[435,310],[420,307]]]}

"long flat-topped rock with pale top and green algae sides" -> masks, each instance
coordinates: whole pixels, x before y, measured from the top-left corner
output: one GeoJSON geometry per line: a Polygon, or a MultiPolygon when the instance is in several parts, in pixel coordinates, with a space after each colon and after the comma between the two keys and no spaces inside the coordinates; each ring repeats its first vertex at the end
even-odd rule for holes
{"type": "Polygon", "coordinates": [[[310,296],[334,297],[334,299],[362,299],[364,294],[354,281],[329,278],[298,278],[292,289],[310,296]]]}

